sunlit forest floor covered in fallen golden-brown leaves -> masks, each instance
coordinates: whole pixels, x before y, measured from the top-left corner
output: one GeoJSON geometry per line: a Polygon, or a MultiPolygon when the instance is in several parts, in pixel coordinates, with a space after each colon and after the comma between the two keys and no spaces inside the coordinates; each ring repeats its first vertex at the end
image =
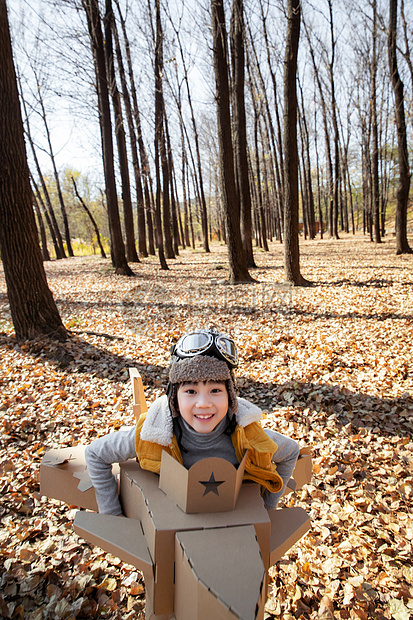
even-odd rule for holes
{"type": "Polygon", "coordinates": [[[73,337],[18,344],[0,281],[0,616],[143,618],[141,574],[72,530],[39,493],[47,449],[133,424],[127,367],[151,402],[170,344],[217,325],[236,339],[240,395],[313,450],[312,483],[285,501],[311,531],[270,570],[266,618],[413,616],[413,257],[394,239],[301,243],[310,288],[283,286],[283,251],[256,252],[259,284],[226,286],[226,249],[183,251],[113,275],[108,260],[46,263],[73,337]]]}

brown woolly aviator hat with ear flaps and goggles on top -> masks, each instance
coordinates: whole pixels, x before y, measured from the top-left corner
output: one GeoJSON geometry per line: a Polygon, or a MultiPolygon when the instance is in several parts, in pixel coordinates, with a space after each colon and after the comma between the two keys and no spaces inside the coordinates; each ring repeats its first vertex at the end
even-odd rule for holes
{"type": "Polygon", "coordinates": [[[168,394],[172,416],[179,415],[177,390],[181,383],[222,381],[228,391],[228,417],[231,419],[238,411],[232,370],[238,363],[235,343],[215,330],[198,330],[184,334],[171,353],[168,394]]]}

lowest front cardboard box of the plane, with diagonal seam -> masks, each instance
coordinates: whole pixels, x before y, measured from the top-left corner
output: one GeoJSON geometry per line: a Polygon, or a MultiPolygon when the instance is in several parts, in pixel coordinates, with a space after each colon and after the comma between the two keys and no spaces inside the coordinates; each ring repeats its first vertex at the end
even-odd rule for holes
{"type": "Polygon", "coordinates": [[[175,615],[260,620],[266,571],[253,525],[177,532],[175,615]]]}

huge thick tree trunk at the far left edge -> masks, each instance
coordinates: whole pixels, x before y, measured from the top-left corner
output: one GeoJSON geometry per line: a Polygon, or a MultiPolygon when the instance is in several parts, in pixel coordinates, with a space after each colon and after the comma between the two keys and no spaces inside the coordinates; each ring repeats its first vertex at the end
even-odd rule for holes
{"type": "Polygon", "coordinates": [[[32,207],[16,73],[5,0],[0,0],[0,251],[16,338],[50,335],[63,326],[47,284],[32,207]]]}

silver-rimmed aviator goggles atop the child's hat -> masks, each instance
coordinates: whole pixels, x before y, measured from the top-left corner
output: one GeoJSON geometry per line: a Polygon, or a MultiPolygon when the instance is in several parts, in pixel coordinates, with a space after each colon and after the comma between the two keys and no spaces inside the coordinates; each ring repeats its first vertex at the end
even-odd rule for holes
{"type": "Polygon", "coordinates": [[[223,360],[231,368],[238,366],[235,342],[214,331],[196,331],[184,334],[171,348],[171,354],[181,359],[195,355],[212,355],[223,360]]]}

